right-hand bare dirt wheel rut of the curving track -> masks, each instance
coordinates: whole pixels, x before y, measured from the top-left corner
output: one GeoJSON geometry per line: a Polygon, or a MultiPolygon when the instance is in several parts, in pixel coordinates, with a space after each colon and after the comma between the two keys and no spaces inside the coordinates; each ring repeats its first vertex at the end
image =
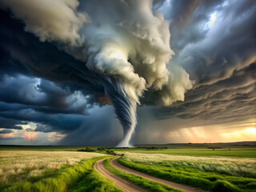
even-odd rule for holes
{"type": "MultiPolygon", "coordinates": [[[[118,158],[121,158],[121,156],[119,156],[118,158]]],[[[126,172],[126,173],[129,173],[129,174],[136,174],[142,178],[146,178],[146,179],[149,179],[151,181],[154,181],[154,182],[160,182],[166,186],[170,186],[172,188],[175,188],[175,189],[178,189],[178,190],[184,190],[186,192],[202,192],[204,190],[200,190],[200,189],[197,189],[197,188],[194,188],[192,186],[185,186],[185,185],[182,185],[182,184],[178,184],[176,182],[170,182],[170,181],[166,181],[162,178],[155,178],[149,174],[143,174],[142,172],[139,172],[137,170],[132,170],[130,168],[127,168],[126,166],[122,166],[119,162],[118,162],[118,158],[113,158],[111,161],[110,161],[110,165],[111,166],[114,166],[115,169],[117,170],[121,170],[123,172],[126,172]]]]}

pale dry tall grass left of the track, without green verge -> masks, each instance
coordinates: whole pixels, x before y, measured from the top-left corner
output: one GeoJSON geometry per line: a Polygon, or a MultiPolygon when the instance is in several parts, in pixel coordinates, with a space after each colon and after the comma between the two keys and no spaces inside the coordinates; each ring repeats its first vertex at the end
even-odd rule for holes
{"type": "Polygon", "coordinates": [[[1,151],[0,183],[10,183],[50,174],[64,165],[102,156],[72,151],[1,151]]]}

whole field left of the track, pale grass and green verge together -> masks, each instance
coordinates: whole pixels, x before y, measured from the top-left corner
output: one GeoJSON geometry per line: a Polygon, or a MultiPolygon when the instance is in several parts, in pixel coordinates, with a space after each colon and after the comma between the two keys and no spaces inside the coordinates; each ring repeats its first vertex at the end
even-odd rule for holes
{"type": "Polygon", "coordinates": [[[102,154],[1,151],[0,191],[120,191],[93,169],[102,154]]]}

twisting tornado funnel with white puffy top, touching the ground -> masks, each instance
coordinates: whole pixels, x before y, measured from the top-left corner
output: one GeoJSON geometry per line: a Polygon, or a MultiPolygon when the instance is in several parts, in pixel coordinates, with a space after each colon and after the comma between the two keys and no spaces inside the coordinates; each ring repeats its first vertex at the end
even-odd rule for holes
{"type": "Polygon", "coordinates": [[[128,54],[121,46],[107,44],[101,52],[92,54],[87,63],[104,86],[122,125],[124,138],[118,147],[132,147],[130,139],[137,123],[137,105],[146,90],[146,80],[134,72],[134,66],[128,60],[128,54]]]}

